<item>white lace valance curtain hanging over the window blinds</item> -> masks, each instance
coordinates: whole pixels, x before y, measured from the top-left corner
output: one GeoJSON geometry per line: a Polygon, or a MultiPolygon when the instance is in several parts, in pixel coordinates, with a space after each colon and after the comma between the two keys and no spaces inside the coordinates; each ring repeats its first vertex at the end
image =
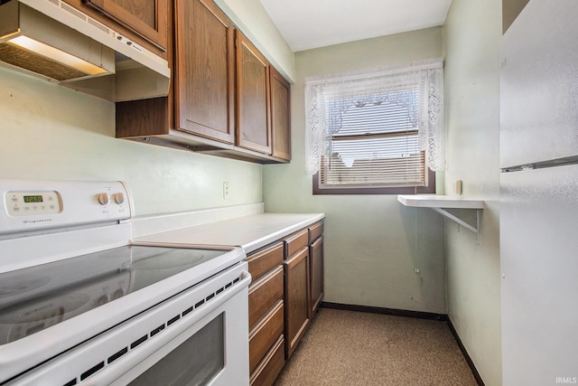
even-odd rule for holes
{"type": "Polygon", "coordinates": [[[420,150],[433,171],[445,169],[443,60],[415,62],[404,68],[356,72],[305,80],[305,157],[309,174],[319,171],[330,151],[331,135],[339,133],[341,116],[368,103],[395,103],[407,108],[418,129],[420,150]],[[406,90],[415,90],[419,97],[406,90]],[[419,98],[419,100],[416,100],[419,98]],[[417,102],[417,103],[416,103],[417,102]]]}

